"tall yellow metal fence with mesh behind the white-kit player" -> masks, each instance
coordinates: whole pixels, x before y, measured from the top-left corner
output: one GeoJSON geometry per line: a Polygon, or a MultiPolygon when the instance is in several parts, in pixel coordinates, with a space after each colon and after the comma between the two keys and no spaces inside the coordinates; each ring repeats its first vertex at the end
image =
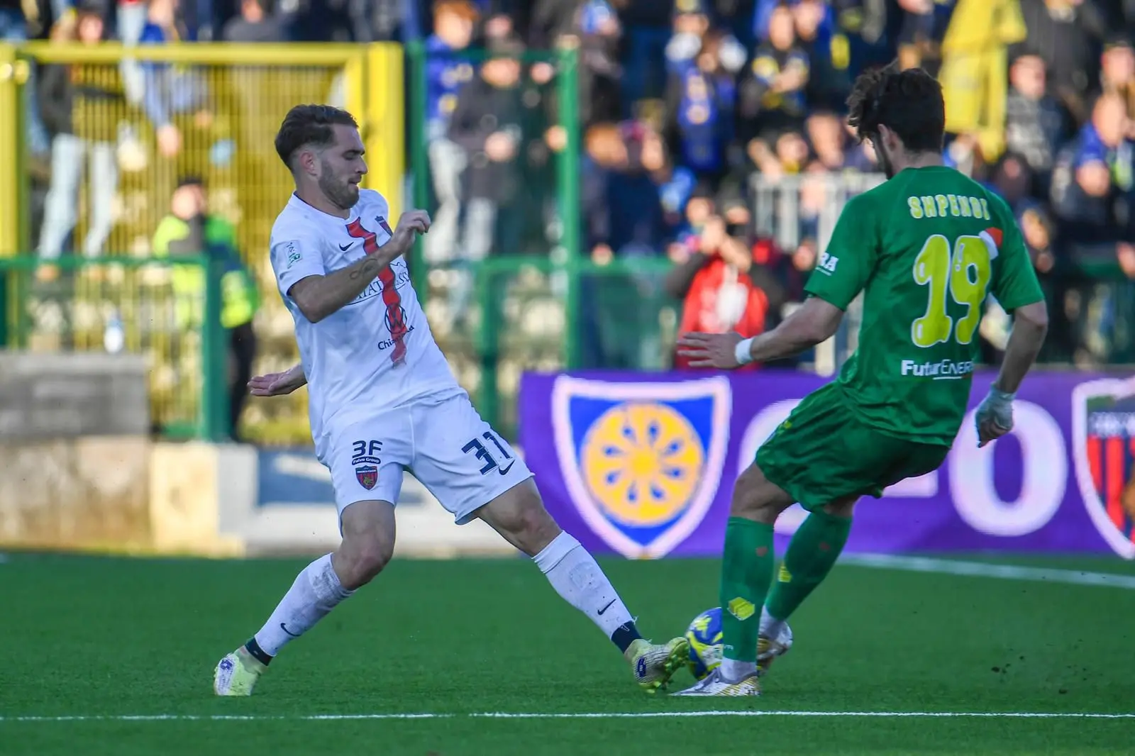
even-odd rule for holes
{"type": "MultiPolygon", "coordinates": [[[[56,81],[70,84],[74,96],[65,115],[77,140],[72,140],[68,154],[76,153],[77,141],[82,146],[77,159],[85,163],[78,192],[69,200],[77,224],[64,255],[83,254],[92,225],[98,227],[99,213],[104,218],[109,207],[111,227],[101,244],[102,263],[149,259],[158,224],[171,210],[177,182],[201,177],[208,190],[209,212],[235,227],[239,254],[262,293],[263,305],[255,322],[261,336],[257,369],[277,369],[294,360],[291,318],[276,294],[268,260],[272,222],[293,190],[292,178],[275,152],[276,132],[287,110],[299,103],[321,102],[350,110],[367,145],[370,173],[364,185],[381,191],[392,212],[397,213],[405,173],[401,47],[0,43],[0,257],[26,258],[18,266],[22,275],[0,282],[0,335],[7,333],[10,345],[20,348],[102,348],[101,339],[93,337],[60,342],[50,333],[50,318],[27,318],[30,311],[52,306],[67,312],[101,312],[111,306],[124,313],[142,311],[135,306],[141,294],[133,286],[101,287],[93,297],[89,296],[90,287],[60,285],[56,276],[35,275],[44,203],[33,198],[50,192],[52,179],[37,179],[31,170],[22,89],[36,81],[42,84],[52,74],[56,81]],[[31,76],[33,70],[37,79],[31,76]],[[186,93],[180,110],[174,108],[186,93]],[[101,145],[101,163],[92,160],[93,145],[101,145]],[[110,153],[115,175],[108,178],[101,171],[91,176],[92,166],[107,165],[110,153]],[[36,180],[41,183],[35,185],[36,180]],[[108,193],[112,195],[109,201],[108,193]]],[[[59,103],[44,101],[41,92],[41,114],[53,104],[58,112],[59,103]]],[[[57,151],[57,160],[61,152],[57,151]]],[[[102,263],[95,268],[101,269],[102,263]]],[[[86,267],[79,261],[65,266],[64,283],[68,271],[86,267]]],[[[132,346],[127,344],[127,348],[132,346]]],[[[200,395],[194,388],[192,401],[200,395]]],[[[154,401],[158,398],[155,394],[154,401]]],[[[191,401],[162,393],[162,406],[155,406],[155,415],[168,413],[167,405],[183,398],[191,401]]],[[[258,403],[250,410],[245,415],[249,425],[288,429],[304,425],[302,396],[258,403]]]]}

